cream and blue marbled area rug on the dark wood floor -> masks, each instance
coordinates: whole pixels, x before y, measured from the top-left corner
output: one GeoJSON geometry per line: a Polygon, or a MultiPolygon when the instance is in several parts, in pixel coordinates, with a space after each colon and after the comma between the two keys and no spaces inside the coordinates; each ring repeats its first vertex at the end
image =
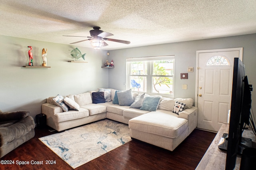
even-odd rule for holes
{"type": "Polygon", "coordinates": [[[128,125],[108,119],[39,139],[72,168],[132,140],[128,125]]]}

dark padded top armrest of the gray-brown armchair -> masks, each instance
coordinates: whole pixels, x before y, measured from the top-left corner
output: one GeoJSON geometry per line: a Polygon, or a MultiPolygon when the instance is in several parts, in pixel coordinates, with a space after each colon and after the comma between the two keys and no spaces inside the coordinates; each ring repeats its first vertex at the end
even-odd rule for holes
{"type": "Polygon", "coordinates": [[[0,113],[0,121],[20,120],[27,117],[29,113],[29,111],[2,112],[0,113]]]}

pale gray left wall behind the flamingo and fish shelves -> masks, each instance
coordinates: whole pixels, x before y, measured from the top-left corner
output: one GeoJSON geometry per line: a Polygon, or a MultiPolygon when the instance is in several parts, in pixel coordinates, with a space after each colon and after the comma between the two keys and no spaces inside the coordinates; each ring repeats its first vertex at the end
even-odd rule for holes
{"type": "Polygon", "coordinates": [[[35,117],[50,96],[107,88],[108,70],[101,68],[106,51],[78,47],[86,53],[88,63],[68,63],[75,47],[0,35],[0,110],[27,110],[35,117]],[[47,48],[47,66],[51,68],[23,68],[28,65],[27,46],[33,47],[37,66],[43,63],[42,48],[47,48]]]}

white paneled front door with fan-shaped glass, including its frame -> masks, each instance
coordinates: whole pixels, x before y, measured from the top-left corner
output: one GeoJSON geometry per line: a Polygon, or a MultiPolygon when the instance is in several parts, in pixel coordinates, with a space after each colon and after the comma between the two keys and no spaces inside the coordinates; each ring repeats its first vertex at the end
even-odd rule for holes
{"type": "Polygon", "coordinates": [[[234,58],[242,60],[242,48],[197,51],[196,57],[197,127],[217,132],[228,122],[234,58]]]}

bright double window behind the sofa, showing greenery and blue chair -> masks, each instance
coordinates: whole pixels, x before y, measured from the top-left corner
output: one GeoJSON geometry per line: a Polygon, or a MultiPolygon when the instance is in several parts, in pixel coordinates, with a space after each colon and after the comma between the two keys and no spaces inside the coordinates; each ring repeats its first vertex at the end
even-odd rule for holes
{"type": "Polygon", "coordinates": [[[174,96],[174,56],[130,58],[126,64],[127,88],[174,96]]]}

